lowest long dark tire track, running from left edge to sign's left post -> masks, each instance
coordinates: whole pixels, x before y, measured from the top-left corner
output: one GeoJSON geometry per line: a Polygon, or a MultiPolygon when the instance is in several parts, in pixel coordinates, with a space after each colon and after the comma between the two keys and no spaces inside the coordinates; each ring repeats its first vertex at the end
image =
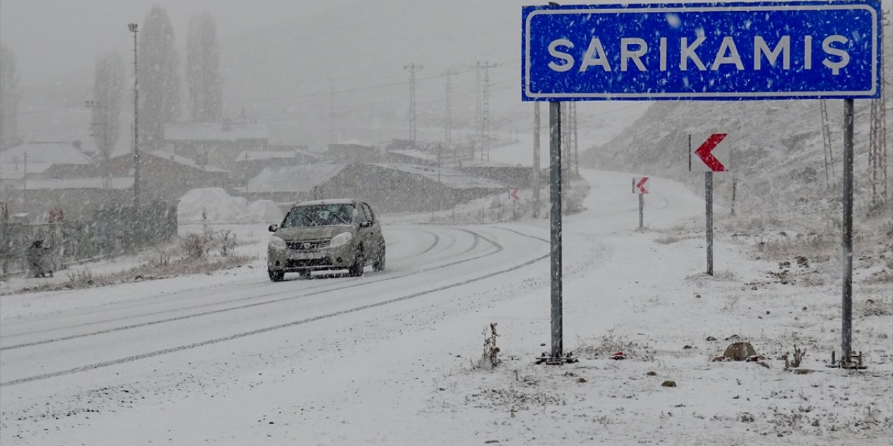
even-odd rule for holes
{"type": "MultiPolygon", "coordinates": [[[[467,231],[467,232],[472,232],[472,231],[468,231],[467,229],[462,229],[462,230],[465,230],[465,231],[467,231]]],[[[472,233],[472,234],[473,234],[473,233],[472,233]]],[[[498,251],[497,251],[497,252],[502,251],[502,249],[503,249],[502,245],[497,244],[496,242],[494,242],[494,241],[492,241],[492,240],[489,240],[489,239],[487,239],[486,237],[481,236],[481,238],[484,238],[484,239],[487,240],[489,243],[494,244],[495,246],[497,246],[497,247],[498,247],[498,251]]],[[[488,255],[489,255],[489,254],[488,254],[488,255]]],[[[483,256],[481,256],[481,257],[483,257],[483,256]]],[[[137,361],[137,360],[139,360],[139,359],[154,358],[154,357],[156,357],[156,356],[162,356],[162,355],[166,355],[166,354],[170,354],[170,353],[175,353],[175,352],[178,352],[178,351],[185,351],[185,350],[195,349],[195,348],[197,348],[197,347],[203,347],[204,345],[212,345],[212,344],[215,344],[215,343],[224,343],[224,342],[227,342],[227,341],[232,341],[232,340],[235,340],[235,339],[240,339],[240,338],[243,338],[243,337],[246,337],[246,336],[261,335],[261,334],[263,334],[263,333],[271,332],[271,331],[274,331],[274,330],[280,330],[280,329],[282,329],[282,328],[288,328],[288,327],[291,327],[291,326],[298,326],[298,325],[307,324],[307,323],[310,323],[310,322],[315,322],[315,321],[322,320],[322,319],[327,319],[327,318],[335,318],[335,317],[342,316],[342,315],[345,315],[345,314],[354,313],[354,312],[357,312],[357,311],[369,310],[369,309],[372,309],[372,308],[381,307],[381,306],[388,305],[388,304],[391,304],[391,303],[396,303],[396,302],[399,302],[399,301],[408,301],[408,300],[410,300],[410,299],[414,299],[414,298],[416,298],[416,297],[420,297],[420,296],[428,295],[428,294],[431,294],[431,293],[438,293],[438,292],[440,292],[440,291],[448,290],[448,289],[450,289],[450,288],[455,288],[455,287],[457,287],[457,286],[468,285],[468,284],[472,284],[472,283],[474,283],[474,282],[478,282],[478,281],[480,281],[480,280],[488,279],[488,278],[490,278],[490,277],[495,277],[495,276],[498,276],[498,275],[501,275],[501,274],[505,274],[505,273],[514,271],[514,270],[516,270],[516,269],[520,269],[520,268],[524,268],[524,267],[527,267],[527,266],[529,266],[529,265],[532,265],[532,264],[538,262],[539,260],[545,260],[545,259],[547,259],[548,257],[549,257],[549,254],[541,255],[541,256],[535,257],[535,258],[533,258],[533,259],[531,259],[531,260],[527,260],[527,261],[525,261],[525,262],[522,262],[522,263],[520,263],[520,264],[517,264],[517,265],[515,265],[515,266],[513,266],[513,267],[510,267],[510,268],[501,269],[501,270],[498,270],[498,271],[495,271],[495,272],[492,272],[492,273],[488,273],[488,274],[485,274],[485,275],[483,275],[483,276],[479,276],[479,277],[472,277],[472,278],[470,278],[470,279],[466,279],[466,280],[463,280],[463,281],[461,281],[461,282],[456,282],[455,284],[438,286],[437,288],[432,288],[432,289],[430,289],[430,290],[421,291],[421,292],[419,292],[419,293],[412,293],[412,294],[407,294],[407,295],[405,295],[405,296],[397,297],[397,298],[394,298],[394,299],[388,299],[387,301],[380,301],[380,302],[370,303],[370,304],[366,304],[366,305],[361,305],[361,306],[359,306],[359,307],[355,307],[355,308],[348,309],[348,310],[335,311],[335,312],[328,313],[328,314],[323,314],[323,315],[320,315],[320,316],[314,316],[313,318],[300,319],[300,320],[296,320],[296,321],[292,321],[292,322],[287,322],[287,323],[285,323],[285,324],[279,324],[279,325],[276,325],[276,326],[267,326],[267,327],[263,327],[263,328],[258,328],[258,329],[255,329],[255,330],[251,330],[251,331],[247,331],[247,332],[243,332],[243,333],[238,333],[238,334],[236,334],[236,335],[229,335],[229,336],[223,336],[223,337],[218,337],[218,338],[214,338],[214,339],[209,339],[209,340],[207,340],[207,341],[202,341],[202,342],[199,342],[199,343],[189,343],[189,344],[187,344],[187,345],[180,345],[180,346],[178,346],[178,347],[171,347],[171,348],[168,348],[168,349],[163,349],[163,350],[158,350],[158,351],[150,351],[150,352],[148,352],[148,353],[142,353],[142,354],[138,354],[138,355],[128,356],[128,357],[121,358],[121,359],[112,359],[112,360],[108,360],[108,361],[104,361],[104,362],[98,362],[98,363],[96,363],[96,364],[90,364],[90,365],[88,365],[88,366],[81,366],[81,367],[78,367],[78,368],[69,368],[69,369],[66,369],[66,370],[60,370],[60,371],[57,371],[57,372],[51,372],[51,373],[46,373],[46,374],[42,374],[42,375],[28,376],[28,377],[19,378],[19,379],[13,379],[13,380],[11,380],[11,381],[0,382],[0,387],[6,387],[6,386],[16,385],[16,384],[25,384],[25,383],[30,383],[30,382],[33,382],[33,381],[39,381],[39,380],[43,380],[43,379],[54,378],[54,377],[57,377],[57,376],[66,376],[66,375],[76,374],[76,373],[80,373],[80,372],[86,372],[86,371],[93,370],[93,369],[96,369],[96,368],[106,368],[106,367],[111,367],[111,366],[115,366],[115,365],[119,365],[119,364],[124,364],[124,363],[127,363],[127,362],[137,361]]],[[[462,260],[462,261],[465,261],[465,260],[462,260]]]]}

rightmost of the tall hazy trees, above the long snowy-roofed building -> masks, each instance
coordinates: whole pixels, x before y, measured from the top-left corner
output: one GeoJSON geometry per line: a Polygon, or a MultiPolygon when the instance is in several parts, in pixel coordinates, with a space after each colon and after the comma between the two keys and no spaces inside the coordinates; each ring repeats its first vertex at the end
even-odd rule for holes
{"type": "Polygon", "coordinates": [[[217,44],[217,24],[211,12],[189,19],[186,38],[186,83],[189,90],[189,118],[213,122],[221,119],[221,52],[217,44]]]}

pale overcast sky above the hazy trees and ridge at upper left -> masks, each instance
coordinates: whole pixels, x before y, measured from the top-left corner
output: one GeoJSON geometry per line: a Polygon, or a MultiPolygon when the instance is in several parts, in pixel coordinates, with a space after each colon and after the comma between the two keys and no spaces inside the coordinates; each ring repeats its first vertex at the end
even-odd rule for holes
{"type": "Polygon", "coordinates": [[[313,14],[343,1],[295,0],[2,0],[0,42],[19,62],[23,83],[40,83],[91,75],[96,55],[118,49],[132,51],[128,23],[142,24],[153,4],[163,6],[183,45],[189,17],[212,10],[221,38],[279,24],[297,14],[313,14]]]}

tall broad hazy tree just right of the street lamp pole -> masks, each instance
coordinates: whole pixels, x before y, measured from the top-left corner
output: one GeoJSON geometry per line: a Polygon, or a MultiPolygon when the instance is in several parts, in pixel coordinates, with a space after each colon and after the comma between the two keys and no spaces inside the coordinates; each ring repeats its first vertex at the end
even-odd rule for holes
{"type": "Polygon", "coordinates": [[[167,12],[153,6],[139,37],[139,140],[158,147],[164,124],[179,120],[179,54],[167,12]]]}

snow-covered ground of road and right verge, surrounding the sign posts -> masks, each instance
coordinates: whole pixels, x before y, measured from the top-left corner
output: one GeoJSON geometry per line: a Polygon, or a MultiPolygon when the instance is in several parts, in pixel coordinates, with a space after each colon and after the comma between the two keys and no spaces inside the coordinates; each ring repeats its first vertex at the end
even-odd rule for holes
{"type": "Polygon", "coordinates": [[[244,268],[0,297],[0,444],[888,444],[890,283],[856,276],[868,368],[826,368],[837,268],[719,231],[706,276],[703,199],[651,179],[639,232],[630,177],[585,170],[586,211],[564,222],[564,350],[580,362],[534,360],[550,342],[546,220],[391,218],[386,271],[277,284],[266,225],[227,224],[250,242],[244,268]],[[711,361],[736,339],[763,364],[711,361]],[[795,345],[809,372],[778,359],[795,345]]]}

